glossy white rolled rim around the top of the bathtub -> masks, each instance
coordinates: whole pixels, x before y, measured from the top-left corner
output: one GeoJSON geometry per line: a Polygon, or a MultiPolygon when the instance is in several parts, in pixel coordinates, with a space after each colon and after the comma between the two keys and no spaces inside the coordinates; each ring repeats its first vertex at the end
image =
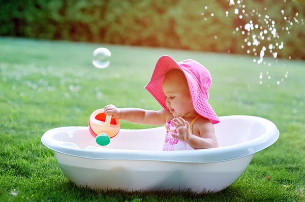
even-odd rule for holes
{"type": "MultiPolygon", "coordinates": [[[[255,119],[262,125],[266,126],[266,131],[258,138],[252,139],[247,142],[223,146],[218,148],[209,149],[196,149],[196,150],[184,150],[184,151],[149,151],[149,150],[128,150],[128,149],[111,149],[111,148],[99,148],[97,150],[72,148],[68,146],[58,145],[58,140],[54,140],[50,137],[53,131],[60,129],[85,129],[85,126],[68,126],[53,128],[44,133],[41,137],[41,142],[49,149],[58,153],[63,153],[70,156],[100,159],[100,160],[155,160],[155,161],[172,161],[180,163],[217,163],[221,161],[233,160],[242,158],[254,153],[257,153],[273,143],[279,138],[279,130],[275,124],[270,120],[258,116],[250,115],[228,115],[220,116],[221,120],[231,118],[242,119],[255,119]],[[57,143],[57,144],[55,144],[57,143]]],[[[148,129],[121,129],[122,131],[131,130],[149,130],[158,129],[161,127],[148,128],[148,129]]]]}

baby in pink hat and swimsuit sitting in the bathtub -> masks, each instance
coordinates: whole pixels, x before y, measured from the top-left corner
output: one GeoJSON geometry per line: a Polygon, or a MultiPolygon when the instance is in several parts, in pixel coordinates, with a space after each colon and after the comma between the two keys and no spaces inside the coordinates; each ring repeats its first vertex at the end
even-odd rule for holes
{"type": "Polygon", "coordinates": [[[208,103],[209,71],[194,60],[176,62],[169,56],[157,61],[144,87],[163,107],[159,111],[116,108],[107,105],[105,114],[132,123],[164,125],[164,151],[218,147],[214,124],[220,122],[208,103]]]}

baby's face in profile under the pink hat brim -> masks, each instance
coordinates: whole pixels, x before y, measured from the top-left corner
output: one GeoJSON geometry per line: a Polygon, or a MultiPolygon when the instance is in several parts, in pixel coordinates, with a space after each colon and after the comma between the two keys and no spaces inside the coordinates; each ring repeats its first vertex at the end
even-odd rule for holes
{"type": "Polygon", "coordinates": [[[166,96],[166,105],[173,116],[184,117],[194,110],[188,83],[183,72],[175,70],[166,74],[162,89],[166,96]]]}

